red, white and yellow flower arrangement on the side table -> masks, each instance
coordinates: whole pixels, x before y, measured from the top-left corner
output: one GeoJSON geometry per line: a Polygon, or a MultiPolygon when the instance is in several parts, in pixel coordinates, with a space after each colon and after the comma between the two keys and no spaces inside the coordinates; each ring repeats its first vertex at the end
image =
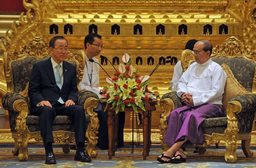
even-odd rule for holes
{"type": "Polygon", "coordinates": [[[124,110],[125,106],[131,106],[135,112],[138,107],[145,111],[144,102],[149,98],[156,98],[147,88],[149,76],[140,76],[137,69],[133,72],[127,53],[122,56],[122,61],[124,64],[119,64],[119,72],[114,72],[112,78],[106,78],[111,85],[105,86],[102,94],[107,99],[107,104],[112,103],[112,108],[115,107],[115,113],[118,113],[120,108],[124,110]]]}

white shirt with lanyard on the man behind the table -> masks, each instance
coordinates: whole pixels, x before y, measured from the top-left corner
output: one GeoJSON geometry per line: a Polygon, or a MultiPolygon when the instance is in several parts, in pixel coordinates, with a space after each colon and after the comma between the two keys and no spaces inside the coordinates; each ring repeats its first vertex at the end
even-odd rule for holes
{"type": "MultiPolygon", "coordinates": [[[[92,59],[95,62],[98,62],[97,58],[93,57],[92,59]]],[[[92,91],[95,94],[97,94],[97,96],[99,96],[98,85],[99,85],[99,65],[97,63],[90,62],[89,58],[85,55],[85,66],[83,69],[82,80],[79,82],[79,87],[81,89],[92,91]]]]}

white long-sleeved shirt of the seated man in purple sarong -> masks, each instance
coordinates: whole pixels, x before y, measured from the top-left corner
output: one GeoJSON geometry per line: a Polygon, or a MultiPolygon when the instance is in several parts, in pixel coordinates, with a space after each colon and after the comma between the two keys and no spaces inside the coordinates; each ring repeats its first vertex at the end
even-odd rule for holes
{"type": "Polygon", "coordinates": [[[222,104],[222,94],[226,82],[226,73],[219,64],[211,59],[188,66],[177,85],[177,95],[184,92],[192,94],[193,105],[204,103],[222,104]]]}

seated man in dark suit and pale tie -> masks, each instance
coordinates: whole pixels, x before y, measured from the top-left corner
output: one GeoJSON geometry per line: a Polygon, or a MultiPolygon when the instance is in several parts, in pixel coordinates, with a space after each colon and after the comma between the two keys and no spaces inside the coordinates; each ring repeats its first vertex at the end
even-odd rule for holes
{"type": "Polygon", "coordinates": [[[83,150],[85,140],[85,113],[77,101],[76,68],[64,61],[68,46],[63,36],[49,41],[51,57],[35,63],[29,80],[30,111],[40,118],[40,131],[45,148],[45,164],[55,164],[52,149],[52,122],[56,115],[67,115],[73,122],[77,150],[74,160],[90,162],[83,150]]]}

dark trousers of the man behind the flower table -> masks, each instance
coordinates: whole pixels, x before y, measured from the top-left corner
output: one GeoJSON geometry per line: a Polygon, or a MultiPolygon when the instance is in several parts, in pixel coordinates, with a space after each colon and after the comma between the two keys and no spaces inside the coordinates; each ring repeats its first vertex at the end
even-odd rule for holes
{"type": "MultiPolygon", "coordinates": [[[[108,148],[108,129],[107,129],[107,112],[102,110],[101,104],[94,109],[94,111],[98,114],[99,128],[98,128],[98,142],[97,146],[101,149],[108,148]]],[[[118,113],[118,146],[123,146],[123,128],[124,128],[124,119],[125,112],[118,113]]]]}

